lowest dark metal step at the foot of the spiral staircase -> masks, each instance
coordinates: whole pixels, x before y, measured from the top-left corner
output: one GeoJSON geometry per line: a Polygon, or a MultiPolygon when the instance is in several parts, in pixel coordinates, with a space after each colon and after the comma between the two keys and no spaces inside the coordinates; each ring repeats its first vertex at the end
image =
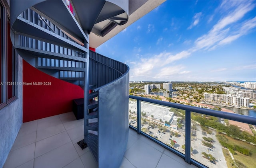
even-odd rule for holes
{"type": "Polygon", "coordinates": [[[88,133],[88,135],[84,137],[84,140],[92,152],[94,159],[98,162],[98,135],[88,133]]]}

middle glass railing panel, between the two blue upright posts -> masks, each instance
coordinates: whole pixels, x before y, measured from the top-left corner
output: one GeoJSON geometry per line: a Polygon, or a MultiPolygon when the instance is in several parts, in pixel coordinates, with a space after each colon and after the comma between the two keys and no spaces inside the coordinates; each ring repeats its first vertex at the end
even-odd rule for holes
{"type": "Polygon", "coordinates": [[[185,153],[185,111],[141,102],[141,131],[185,153]]]}

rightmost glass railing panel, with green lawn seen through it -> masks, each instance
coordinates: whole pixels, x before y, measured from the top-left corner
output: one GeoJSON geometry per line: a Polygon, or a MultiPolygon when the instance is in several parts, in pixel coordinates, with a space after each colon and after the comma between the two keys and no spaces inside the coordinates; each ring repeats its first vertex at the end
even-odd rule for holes
{"type": "Polygon", "coordinates": [[[255,168],[255,126],[191,113],[191,158],[210,168],[255,168]]]}

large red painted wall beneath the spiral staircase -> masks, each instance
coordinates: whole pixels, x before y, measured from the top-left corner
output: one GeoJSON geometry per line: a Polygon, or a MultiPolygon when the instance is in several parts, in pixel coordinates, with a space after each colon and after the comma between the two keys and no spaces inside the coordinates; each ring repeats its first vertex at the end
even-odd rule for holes
{"type": "Polygon", "coordinates": [[[23,82],[43,82],[43,85],[23,84],[23,122],[70,112],[72,100],[84,97],[80,86],[45,74],[24,60],[23,82]]]}

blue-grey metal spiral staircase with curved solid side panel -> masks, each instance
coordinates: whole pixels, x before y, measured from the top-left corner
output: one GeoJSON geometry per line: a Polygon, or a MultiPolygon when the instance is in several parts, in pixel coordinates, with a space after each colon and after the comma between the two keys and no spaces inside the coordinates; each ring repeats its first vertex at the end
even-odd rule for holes
{"type": "Polygon", "coordinates": [[[11,0],[10,17],[24,60],[84,89],[84,143],[98,167],[118,167],[128,140],[129,67],[90,51],[89,34],[126,23],[128,0],[11,0]]]}

